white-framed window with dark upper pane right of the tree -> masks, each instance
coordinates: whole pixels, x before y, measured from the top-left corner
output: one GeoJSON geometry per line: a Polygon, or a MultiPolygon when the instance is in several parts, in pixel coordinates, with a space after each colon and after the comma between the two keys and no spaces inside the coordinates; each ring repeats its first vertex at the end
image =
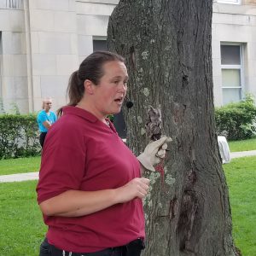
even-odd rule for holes
{"type": "Polygon", "coordinates": [[[220,49],[223,104],[239,102],[243,80],[242,45],[222,44],[220,49]]]}

